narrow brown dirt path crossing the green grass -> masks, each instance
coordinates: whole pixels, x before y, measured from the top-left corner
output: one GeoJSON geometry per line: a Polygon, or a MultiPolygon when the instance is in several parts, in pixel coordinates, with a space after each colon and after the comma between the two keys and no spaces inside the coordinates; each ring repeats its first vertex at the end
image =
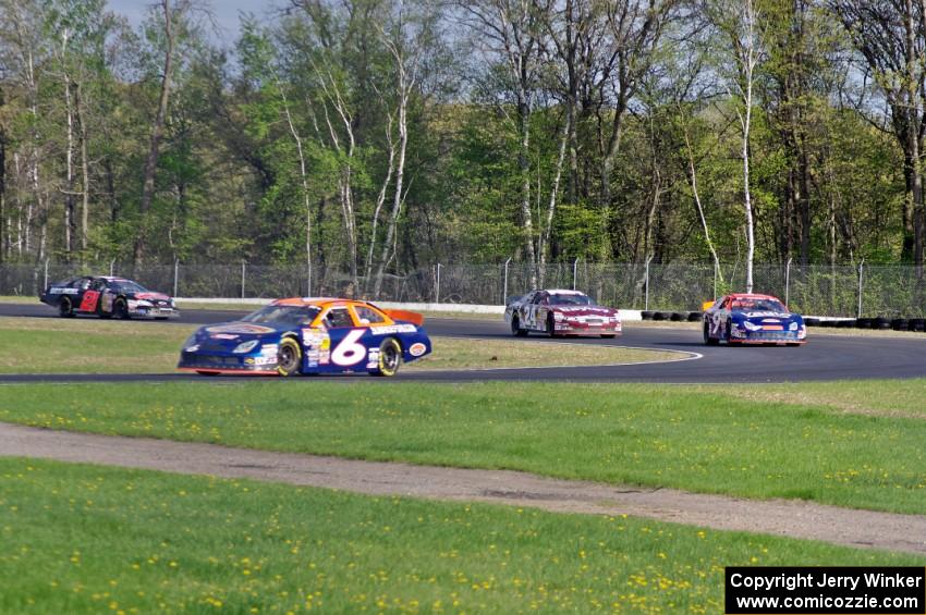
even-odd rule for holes
{"type": "Polygon", "coordinates": [[[926,516],[568,481],[517,471],[361,462],[2,422],[0,456],[247,478],[369,495],[488,502],[555,513],[632,515],[718,530],[926,553],[926,516]]]}

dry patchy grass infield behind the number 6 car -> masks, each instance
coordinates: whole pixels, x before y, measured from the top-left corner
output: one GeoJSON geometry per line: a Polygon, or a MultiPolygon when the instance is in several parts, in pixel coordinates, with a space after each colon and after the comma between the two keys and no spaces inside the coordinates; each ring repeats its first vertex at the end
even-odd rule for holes
{"type": "MultiPolygon", "coordinates": [[[[94,319],[0,318],[0,373],[163,373],[196,325],[94,319]]],[[[678,360],[682,353],[607,345],[434,337],[435,352],[402,370],[606,365],[678,360]]]]}

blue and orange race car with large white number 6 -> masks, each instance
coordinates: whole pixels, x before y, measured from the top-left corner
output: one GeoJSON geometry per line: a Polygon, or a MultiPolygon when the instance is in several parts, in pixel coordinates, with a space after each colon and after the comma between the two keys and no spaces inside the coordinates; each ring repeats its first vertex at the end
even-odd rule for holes
{"type": "Polygon", "coordinates": [[[366,371],[394,376],[431,343],[419,313],[338,298],[289,298],[234,322],[199,328],[178,369],[204,376],[366,371]]]}

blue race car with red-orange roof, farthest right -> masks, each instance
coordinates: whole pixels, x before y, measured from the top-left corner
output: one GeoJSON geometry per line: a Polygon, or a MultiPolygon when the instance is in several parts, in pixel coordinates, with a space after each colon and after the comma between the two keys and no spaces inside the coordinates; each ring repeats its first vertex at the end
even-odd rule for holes
{"type": "Polygon", "coordinates": [[[734,294],[714,302],[704,312],[704,343],[787,344],[807,342],[800,313],[792,313],[770,295],[734,294]]]}

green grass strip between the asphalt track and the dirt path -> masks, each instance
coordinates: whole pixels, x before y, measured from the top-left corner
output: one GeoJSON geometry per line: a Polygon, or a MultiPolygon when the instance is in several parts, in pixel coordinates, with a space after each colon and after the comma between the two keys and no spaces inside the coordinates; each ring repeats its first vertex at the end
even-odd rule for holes
{"type": "MultiPolygon", "coordinates": [[[[869,384],[840,386],[862,397],[869,384]]],[[[912,404],[924,381],[894,385],[910,388],[912,404]]],[[[791,389],[823,395],[819,386],[791,389]]],[[[697,386],[366,379],[17,384],[0,388],[0,420],[926,513],[923,418],[846,415],[697,386]]]]}

